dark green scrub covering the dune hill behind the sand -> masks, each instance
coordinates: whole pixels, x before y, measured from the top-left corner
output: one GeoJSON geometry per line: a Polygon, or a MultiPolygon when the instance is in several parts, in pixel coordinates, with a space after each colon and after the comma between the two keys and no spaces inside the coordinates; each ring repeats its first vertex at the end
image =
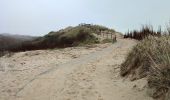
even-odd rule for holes
{"type": "Polygon", "coordinates": [[[115,30],[104,26],[80,24],[76,27],[67,27],[57,32],[52,31],[43,37],[24,41],[19,45],[9,46],[5,51],[17,52],[95,44],[100,42],[97,36],[103,31],[115,33],[115,30]]]}

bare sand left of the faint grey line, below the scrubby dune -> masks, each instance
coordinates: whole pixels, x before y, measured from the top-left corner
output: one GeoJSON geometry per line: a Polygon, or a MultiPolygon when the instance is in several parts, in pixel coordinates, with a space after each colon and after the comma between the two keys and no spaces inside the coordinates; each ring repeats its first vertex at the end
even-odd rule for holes
{"type": "Polygon", "coordinates": [[[72,59],[100,51],[111,44],[15,53],[0,58],[0,100],[15,100],[16,93],[37,75],[72,59]]]}

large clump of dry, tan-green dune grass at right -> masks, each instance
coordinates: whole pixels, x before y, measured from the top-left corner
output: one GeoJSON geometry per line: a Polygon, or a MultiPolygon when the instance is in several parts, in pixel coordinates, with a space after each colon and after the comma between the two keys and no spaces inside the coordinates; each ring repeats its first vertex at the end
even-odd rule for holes
{"type": "Polygon", "coordinates": [[[137,44],[121,66],[121,75],[132,80],[148,77],[154,98],[165,100],[170,89],[170,36],[149,36],[137,44]]]}

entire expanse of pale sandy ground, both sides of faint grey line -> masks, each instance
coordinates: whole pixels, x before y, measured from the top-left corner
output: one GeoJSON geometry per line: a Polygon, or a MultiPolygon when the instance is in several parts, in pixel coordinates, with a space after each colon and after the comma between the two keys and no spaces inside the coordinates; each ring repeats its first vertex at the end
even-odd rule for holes
{"type": "Polygon", "coordinates": [[[29,51],[0,58],[0,100],[152,100],[146,79],[119,76],[120,64],[136,44],[29,51]]]}

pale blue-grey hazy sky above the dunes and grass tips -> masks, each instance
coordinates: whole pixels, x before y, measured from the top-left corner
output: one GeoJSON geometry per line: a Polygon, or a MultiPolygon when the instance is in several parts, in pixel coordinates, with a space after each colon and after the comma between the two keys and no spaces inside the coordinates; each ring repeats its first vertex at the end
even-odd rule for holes
{"type": "Polygon", "coordinates": [[[0,33],[40,36],[80,23],[119,32],[170,20],[170,0],[0,0],[0,33]]]}

